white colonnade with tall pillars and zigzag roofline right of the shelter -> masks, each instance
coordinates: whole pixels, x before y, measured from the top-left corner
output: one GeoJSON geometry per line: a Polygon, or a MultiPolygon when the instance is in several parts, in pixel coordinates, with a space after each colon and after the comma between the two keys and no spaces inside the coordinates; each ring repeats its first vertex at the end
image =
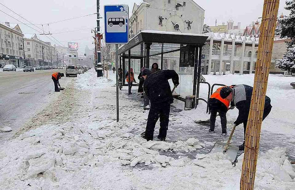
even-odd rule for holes
{"type": "MultiPolygon", "coordinates": [[[[234,74],[235,65],[234,62],[240,62],[239,73],[244,73],[244,61],[250,62],[249,73],[253,71],[254,62],[257,59],[257,53],[255,52],[255,47],[258,47],[259,38],[248,37],[248,36],[240,36],[240,35],[232,35],[232,34],[220,34],[220,33],[206,33],[208,36],[207,43],[209,49],[203,51],[205,53],[205,63],[208,61],[208,74],[211,73],[212,62],[213,64],[213,73],[216,74],[217,62],[219,61],[219,74],[226,73],[226,61],[230,62],[230,73],[234,74]],[[213,50],[213,44],[215,48],[213,50]],[[220,48],[219,48],[220,46],[220,48]],[[245,51],[245,49],[250,50],[245,51]]],[[[208,46],[207,46],[208,47],[208,46]]]]}

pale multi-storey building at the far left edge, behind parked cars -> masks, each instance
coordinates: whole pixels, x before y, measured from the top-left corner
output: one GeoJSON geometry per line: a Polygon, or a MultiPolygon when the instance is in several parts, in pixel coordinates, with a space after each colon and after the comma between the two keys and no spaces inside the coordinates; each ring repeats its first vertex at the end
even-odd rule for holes
{"type": "Polygon", "coordinates": [[[0,24],[0,66],[12,64],[17,68],[23,67],[23,36],[18,25],[11,27],[9,22],[0,24]]]}

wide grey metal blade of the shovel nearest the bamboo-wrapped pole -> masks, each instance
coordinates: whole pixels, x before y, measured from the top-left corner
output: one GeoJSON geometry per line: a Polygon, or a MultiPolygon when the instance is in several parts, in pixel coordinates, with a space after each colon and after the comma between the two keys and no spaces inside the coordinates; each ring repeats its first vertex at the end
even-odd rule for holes
{"type": "MultiPolygon", "coordinates": [[[[216,142],[214,146],[211,148],[211,150],[209,151],[209,154],[223,152],[225,145],[226,143],[224,142],[216,142]]],[[[228,146],[227,151],[224,154],[227,156],[227,159],[231,161],[231,163],[234,163],[238,155],[238,152],[239,152],[239,147],[230,144],[228,146]]]]}

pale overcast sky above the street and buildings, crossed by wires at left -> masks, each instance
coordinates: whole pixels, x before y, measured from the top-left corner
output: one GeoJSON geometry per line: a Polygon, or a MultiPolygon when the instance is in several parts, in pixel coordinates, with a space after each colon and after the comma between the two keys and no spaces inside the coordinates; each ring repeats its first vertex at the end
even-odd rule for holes
{"type": "MultiPolygon", "coordinates": [[[[44,24],[44,30],[47,32],[47,23],[96,13],[96,0],[0,0],[0,2],[10,9],[14,10],[14,12],[20,14],[22,17],[26,18],[30,22],[34,24],[44,24]]],[[[131,12],[134,2],[140,4],[141,0],[100,0],[100,13],[103,13],[104,5],[110,4],[128,4],[129,12],[131,12]]],[[[241,22],[241,26],[245,27],[249,25],[252,21],[256,20],[258,17],[262,16],[263,0],[195,0],[195,2],[205,10],[204,23],[209,26],[215,25],[215,19],[217,19],[217,24],[221,24],[222,22],[226,23],[229,18],[233,18],[235,24],[237,22],[241,22]]],[[[284,6],[285,0],[280,0],[279,13],[288,14],[288,12],[284,9],[284,6]]],[[[17,18],[21,22],[28,23],[1,4],[0,10],[13,16],[14,18],[17,18]]],[[[19,21],[0,12],[1,23],[19,23],[19,21]]],[[[103,20],[101,19],[101,26],[103,26],[102,22],[103,20]]],[[[35,26],[29,26],[41,31],[35,26]]],[[[41,25],[37,26],[42,28],[41,25]]],[[[20,27],[24,34],[39,34],[39,32],[29,28],[26,25],[21,24],[20,27]]],[[[49,25],[50,33],[53,34],[52,36],[56,38],[59,42],[61,42],[64,46],[67,46],[67,42],[78,42],[80,53],[84,53],[86,45],[89,46],[90,49],[93,48],[91,29],[89,28],[94,27],[96,27],[96,15],[49,25]],[[71,30],[79,31],[67,32],[71,30]],[[66,33],[55,34],[60,32],[66,33]]],[[[44,35],[38,35],[38,37],[40,37],[44,41],[50,41],[44,35]]],[[[49,38],[52,37],[49,36],[49,38]]]]}

